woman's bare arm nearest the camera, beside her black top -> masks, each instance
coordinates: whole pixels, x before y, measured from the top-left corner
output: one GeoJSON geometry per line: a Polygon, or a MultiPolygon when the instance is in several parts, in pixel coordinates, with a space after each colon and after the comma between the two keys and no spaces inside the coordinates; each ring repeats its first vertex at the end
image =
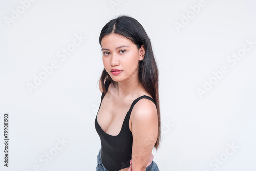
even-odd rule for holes
{"type": "Polygon", "coordinates": [[[133,110],[132,171],[145,171],[157,140],[157,109],[152,101],[140,99],[133,110]]]}

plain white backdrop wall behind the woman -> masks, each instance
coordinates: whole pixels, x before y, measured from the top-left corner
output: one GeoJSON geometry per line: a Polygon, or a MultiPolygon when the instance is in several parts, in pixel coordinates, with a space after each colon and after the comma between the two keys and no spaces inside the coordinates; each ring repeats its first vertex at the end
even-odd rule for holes
{"type": "Polygon", "coordinates": [[[96,170],[98,37],[121,14],[143,25],[159,69],[159,169],[255,170],[255,7],[252,0],[1,0],[0,142],[9,114],[1,170],[96,170]]]}

